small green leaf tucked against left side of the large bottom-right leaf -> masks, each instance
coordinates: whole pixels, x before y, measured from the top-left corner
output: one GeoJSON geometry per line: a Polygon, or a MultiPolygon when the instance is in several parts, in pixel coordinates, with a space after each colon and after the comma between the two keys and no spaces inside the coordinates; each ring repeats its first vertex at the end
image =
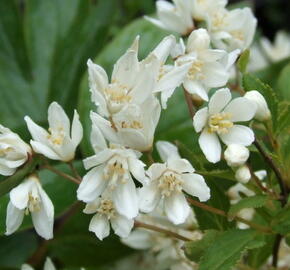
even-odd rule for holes
{"type": "Polygon", "coordinates": [[[191,261],[198,263],[206,250],[213,244],[220,234],[221,232],[219,231],[208,230],[205,231],[201,240],[185,243],[186,256],[191,261]]]}

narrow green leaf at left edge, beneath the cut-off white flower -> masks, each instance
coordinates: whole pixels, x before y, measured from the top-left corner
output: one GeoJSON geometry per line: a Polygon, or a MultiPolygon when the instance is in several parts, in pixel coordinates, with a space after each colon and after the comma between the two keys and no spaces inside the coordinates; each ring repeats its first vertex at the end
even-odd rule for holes
{"type": "Polygon", "coordinates": [[[35,167],[39,163],[39,159],[35,156],[22,168],[18,169],[15,174],[8,177],[4,181],[0,181],[0,197],[8,193],[11,189],[20,184],[24,177],[35,170],[35,167]]]}

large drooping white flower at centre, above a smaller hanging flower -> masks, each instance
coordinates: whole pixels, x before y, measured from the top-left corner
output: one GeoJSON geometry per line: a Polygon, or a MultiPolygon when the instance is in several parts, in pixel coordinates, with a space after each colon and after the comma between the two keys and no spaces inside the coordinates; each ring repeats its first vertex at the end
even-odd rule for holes
{"type": "Polygon", "coordinates": [[[91,141],[96,154],[84,160],[90,171],[79,185],[78,199],[93,202],[109,188],[117,211],[129,219],[136,217],[138,197],[132,175],[142,184],[147,181],[145,164],[138,159],[141,153],[121,145],[108,146],[97,125],[93,125],[91,141]]]}

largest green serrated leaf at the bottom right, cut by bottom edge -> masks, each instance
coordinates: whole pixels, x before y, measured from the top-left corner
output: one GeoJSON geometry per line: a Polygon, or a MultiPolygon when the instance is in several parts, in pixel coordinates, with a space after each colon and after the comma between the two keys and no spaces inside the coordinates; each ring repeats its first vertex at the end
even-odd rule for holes
{"type": "Polygon", "coordinates": [[[260,248],[265,242],[253,230],[234,229],[217,237],[206,250],[199,270],[230,270],[248,249],[260,248]]]}

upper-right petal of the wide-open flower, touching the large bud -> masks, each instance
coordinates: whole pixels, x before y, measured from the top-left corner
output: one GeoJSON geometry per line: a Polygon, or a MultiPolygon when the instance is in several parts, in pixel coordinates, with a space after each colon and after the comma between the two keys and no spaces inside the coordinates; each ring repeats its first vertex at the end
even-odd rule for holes
{"type": "Polygon", "coordinates": [[[224,109],[231,114],[233,122],[243,122],[253,119],[256,113],[256,104],[244,97],[235,98],[224,109]]]}

